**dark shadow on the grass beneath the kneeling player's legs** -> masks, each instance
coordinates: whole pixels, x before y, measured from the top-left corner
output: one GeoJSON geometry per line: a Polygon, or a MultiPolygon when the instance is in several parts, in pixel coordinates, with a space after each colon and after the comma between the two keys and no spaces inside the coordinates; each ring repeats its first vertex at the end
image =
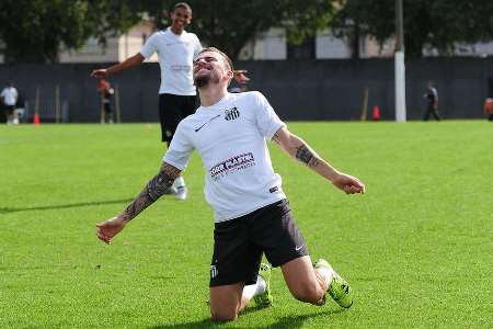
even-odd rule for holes
{"type": "MultiPolygon", "coordinates": [[[[252,313],[252,311],[255,311],[259,309],[262,309],[262,307],[249,308],[244,311],[244,314],[252,313]]],[[[323,317],[323,316],[328,316],[328,315],[334,315],[334,314],[339,314],[339,313],[343,313],[343,311],[345,311],[345,310],[339,309],[339,310],[326,310],[326,311],[321,311],[321,313],[307,314],[307,315],[301,315],[301,316],[287,316],[287,317],[277,319],[277,322],[270,325],[267,328],[302,328],[305,321],[308,319],[313,319],[317,317],[323,317]]],[[[184,322],[184,324],[180,324],[180,325],[158,325],[158,326],[148,327],[148,329],[220,328],[226,325],[227,324],[213,322],[209,318],[206,318],[200,321],[184,322]]],[[[241,328],[241,327],[236,327],[236,328],[241,328]]]]}

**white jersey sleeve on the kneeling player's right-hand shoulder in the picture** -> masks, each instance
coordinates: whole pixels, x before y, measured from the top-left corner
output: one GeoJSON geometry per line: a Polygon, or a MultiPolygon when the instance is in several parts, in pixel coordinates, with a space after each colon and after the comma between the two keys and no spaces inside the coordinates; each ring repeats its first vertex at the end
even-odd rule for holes
{"type": "Polygon", "coordinates": [[[266,139],[272,139],[274,134],[286,124],[280,121],[267,99],[257,91],[252,92],[255,98],[255,118],[259,131],[266,139]]]}

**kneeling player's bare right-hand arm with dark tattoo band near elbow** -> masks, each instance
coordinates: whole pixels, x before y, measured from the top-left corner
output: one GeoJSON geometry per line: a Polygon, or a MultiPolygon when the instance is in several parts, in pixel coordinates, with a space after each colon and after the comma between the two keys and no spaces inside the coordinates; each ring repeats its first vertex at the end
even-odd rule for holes
{"type": "Polygon", "coordinates": [[[365,184],[363,182],[355,177],[337,171],[312,150],[305,140],[291,134],[286,127],[279,128],[272,139],[283,151],[330,180],[337,189],[343,190],[347,194],[365,193],[365,184]]]}

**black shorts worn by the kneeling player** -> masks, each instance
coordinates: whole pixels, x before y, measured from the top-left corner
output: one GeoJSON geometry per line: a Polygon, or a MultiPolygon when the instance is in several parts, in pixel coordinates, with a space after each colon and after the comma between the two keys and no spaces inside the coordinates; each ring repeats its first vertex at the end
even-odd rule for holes
{"type": "Polygon", "coordinates": [[[216,223],[209,286],[254,284],[262,253],[274,268],[308,254],[287,200],[216,223]]]}

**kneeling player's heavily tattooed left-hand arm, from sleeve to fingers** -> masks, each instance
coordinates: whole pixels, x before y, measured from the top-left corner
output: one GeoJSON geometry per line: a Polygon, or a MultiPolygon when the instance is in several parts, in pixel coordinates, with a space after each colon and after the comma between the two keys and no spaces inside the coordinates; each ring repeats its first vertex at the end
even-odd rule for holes
{"type": "Polygon", "coordinates": [[[180,169],[163,162],[159,173],[147,183],[140,194],[137,195],[122,214],[96,225],[98,238],[110,243],[111,239],[122,231],[128,222],[163,195],[180,173],[180,169]]]}

